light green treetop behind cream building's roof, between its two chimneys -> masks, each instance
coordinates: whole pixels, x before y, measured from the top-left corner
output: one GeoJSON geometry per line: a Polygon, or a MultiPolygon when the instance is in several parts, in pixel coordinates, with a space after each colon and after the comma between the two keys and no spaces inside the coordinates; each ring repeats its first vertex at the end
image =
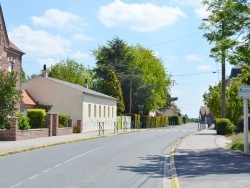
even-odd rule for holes
{"type": "Polygon", "coordinates": [[[92,71],[72,59],[60,61],[59,63],[52,65],[48,70],[48,75],[49,77],[75,83],[81,86],[84,85],[85,79],[88,80],[90,87],[92,84],[92,71]]]}

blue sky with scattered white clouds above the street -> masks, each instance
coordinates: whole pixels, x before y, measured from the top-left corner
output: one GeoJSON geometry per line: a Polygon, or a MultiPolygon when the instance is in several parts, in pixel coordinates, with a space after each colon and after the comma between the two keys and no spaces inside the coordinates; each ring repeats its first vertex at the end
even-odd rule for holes
{"type": "MultiPolygon", "coordinates": [[[[155,52],[176,84],[182,114],[198,117],[202,94],[221,80],[198,27],[208,13],[201,0],[2,0],[10,40],[26,54],[27,75],[67,58],[91,68],[92,50],[115,36],[155,52]],[[217,73],[213,74],[212,72],[217,73]]],[[[229,75],[232,66],[226,65],[229,75]]]]}

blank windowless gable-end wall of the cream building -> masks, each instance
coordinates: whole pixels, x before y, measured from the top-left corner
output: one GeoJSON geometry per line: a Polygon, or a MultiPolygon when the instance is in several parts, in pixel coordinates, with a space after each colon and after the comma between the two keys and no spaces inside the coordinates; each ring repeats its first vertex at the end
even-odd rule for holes
{"type": "Polygon", "coordinates": [[[22,88],[40,104],[53,105],[51,113],[70,115],[74,125],[82,118],[82,92],[45,77],[31,79],[22,88]]]}

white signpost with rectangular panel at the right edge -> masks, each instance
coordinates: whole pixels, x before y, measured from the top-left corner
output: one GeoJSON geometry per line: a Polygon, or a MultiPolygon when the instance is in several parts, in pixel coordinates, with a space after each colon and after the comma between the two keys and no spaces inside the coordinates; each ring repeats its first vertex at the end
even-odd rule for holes
{"type": "Polygon", "coordinates": [[[244,153],[249,152],[248,143],[248,99],[250,98],[250,85],[239,87],[239,97],[244,100],[244,153]]]}

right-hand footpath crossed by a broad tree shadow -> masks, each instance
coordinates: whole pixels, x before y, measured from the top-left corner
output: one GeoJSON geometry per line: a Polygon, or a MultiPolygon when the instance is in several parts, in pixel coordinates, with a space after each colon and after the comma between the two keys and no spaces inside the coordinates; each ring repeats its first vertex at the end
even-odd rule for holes
{"type": "Polygon", "coordinates": [[[179,186],[250,187],[250,155],[225,149],[228,142],[226,137],[216,135],[213,127],[184,138],[174,153],[179,186]]]}

